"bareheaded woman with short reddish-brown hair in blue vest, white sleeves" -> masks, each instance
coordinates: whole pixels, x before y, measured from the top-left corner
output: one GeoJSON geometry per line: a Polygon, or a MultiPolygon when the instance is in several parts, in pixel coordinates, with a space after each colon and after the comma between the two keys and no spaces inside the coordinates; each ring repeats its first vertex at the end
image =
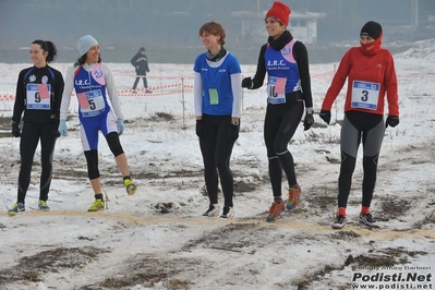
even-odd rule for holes
{"type": "Polygon", "coordinates": [[[242,72],[238,59],[225,48],[226,32],[208,22],[198,31],[204,48],[194,63],[196,135],[204,161],[209,207],[203,216],[219,216],[218,177],[223,192],[221,218],[233,217],[232,147],[239,137],[242,72]],[[219,176],[218,176],[219,172],[219,176]]]}

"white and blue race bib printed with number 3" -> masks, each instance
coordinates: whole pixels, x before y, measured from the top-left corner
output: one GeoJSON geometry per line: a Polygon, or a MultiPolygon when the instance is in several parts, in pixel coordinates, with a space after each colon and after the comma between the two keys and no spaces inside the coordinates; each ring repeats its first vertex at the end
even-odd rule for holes
{"type": "Polygon", "coordinates": [[[353,81],[352,108],[376,110],[379,99],[380,84],[353,81]]]}

